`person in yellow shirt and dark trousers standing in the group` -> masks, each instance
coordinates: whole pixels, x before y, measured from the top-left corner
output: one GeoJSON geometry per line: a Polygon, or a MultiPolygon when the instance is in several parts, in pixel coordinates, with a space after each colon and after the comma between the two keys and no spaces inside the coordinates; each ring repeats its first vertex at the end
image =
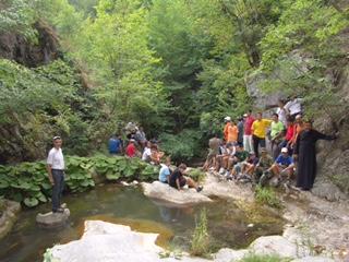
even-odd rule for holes
{"type": "Polygon", "coordinates": [[[257,114],[256,120],[252,123],[252,140],[255,156],[258,157],[258,146],[265,147],[266,129],[272,124],[272,120],[263,119],[262,112],[257,114]]]}

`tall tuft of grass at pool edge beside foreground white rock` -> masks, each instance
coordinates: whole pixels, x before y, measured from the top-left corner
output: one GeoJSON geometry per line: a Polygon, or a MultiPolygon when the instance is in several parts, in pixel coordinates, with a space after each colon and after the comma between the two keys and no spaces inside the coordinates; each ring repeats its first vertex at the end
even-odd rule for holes
{"type": "Polygon", "coordinates": [[[209,246],[210,245],[209,235],[207,230],[207,214],[206,210],[203,209],[200,212],[198,219],[196,219],[196,226],[193,234],[190,253],[192,255],[210,258],[209,246]]]}

